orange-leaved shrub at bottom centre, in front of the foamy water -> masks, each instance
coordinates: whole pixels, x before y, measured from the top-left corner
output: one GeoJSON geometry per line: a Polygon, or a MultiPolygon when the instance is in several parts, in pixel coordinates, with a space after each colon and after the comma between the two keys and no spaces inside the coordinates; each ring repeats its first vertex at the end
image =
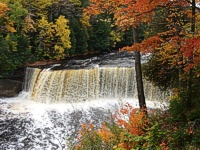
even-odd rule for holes
{"type": "Polygon", "coordinates": [[[103,149],[108,146],[113,149],[131,149],[137,144],[132,139],[144,134],[145,127],[149,124],[145,111],[133,108],[128,103],[115,112],[112,121],[103,122],[101,128],[90,123],[83,124],[76,149],[86,148],[90,142],[99,142],[99,149],[101,146],[103,149]]]}

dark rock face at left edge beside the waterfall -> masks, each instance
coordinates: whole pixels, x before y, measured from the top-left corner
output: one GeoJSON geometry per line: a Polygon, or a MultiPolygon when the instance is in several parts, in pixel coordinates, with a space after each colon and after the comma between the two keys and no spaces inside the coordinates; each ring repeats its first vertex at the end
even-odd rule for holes
{"type": "Polygon", "coordinates": [[[0,79],[0,97],[14,97],[22,91],[22,82],[0,79]]]}

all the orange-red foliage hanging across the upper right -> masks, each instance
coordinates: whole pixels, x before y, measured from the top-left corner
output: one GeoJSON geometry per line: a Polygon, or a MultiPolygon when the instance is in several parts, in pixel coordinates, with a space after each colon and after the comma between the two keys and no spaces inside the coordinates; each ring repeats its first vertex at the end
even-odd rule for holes
{"type": "Polygon", "coordinates": [[[90,0],[90,6],[85,9],[85,12],[89,16],[102,13],[113,14],[115,24],[127,30],[141,26],[141,24],[148,26],[153,19],[155,20],[156,11],[166,9],[166,25],[163,26],[166,28],[165,31],[154,33],[142,42],[133,43],[132,46],[126,46],[121,50],[140,51],[146,54],[162,49],[160,55],[162,55],[163,62],[166,59],[172,59],[170,60],[171,67],[181,64],[187,73],[190,69],[199,67],[200,57],[199,12],[196,9],[194,16],[190,6],[191,3],[186,0],[90,0]],[[190,20],[194,17],[197,31],[192,33],[189,27],[191,26],[190,20]]]}

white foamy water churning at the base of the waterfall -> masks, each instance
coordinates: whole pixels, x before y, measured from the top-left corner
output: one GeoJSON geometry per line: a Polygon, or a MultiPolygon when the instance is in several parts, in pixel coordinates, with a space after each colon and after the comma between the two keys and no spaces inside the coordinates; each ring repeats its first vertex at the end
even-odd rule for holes
{"type": "MultiPolygon", "coordinates": [[[[41,104],[18,97],[0,99],[1,150],[63,150],[75,142],[82,123],[100,124],[114,110],[129,102],[138,107],[136,99],[98,99],[82,103],[41,104]]],[[[147,107],[166,104],[147,101],[147,107]]]]}

